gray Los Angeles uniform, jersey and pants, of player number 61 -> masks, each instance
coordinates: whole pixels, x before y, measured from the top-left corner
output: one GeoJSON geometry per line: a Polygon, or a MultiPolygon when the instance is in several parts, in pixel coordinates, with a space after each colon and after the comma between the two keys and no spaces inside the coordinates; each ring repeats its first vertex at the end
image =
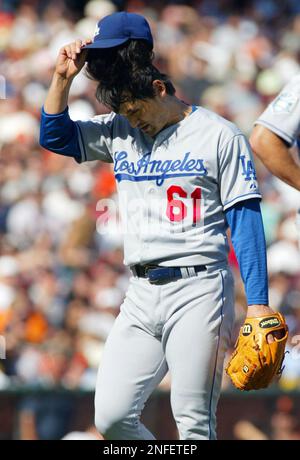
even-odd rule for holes
{"type": "Polygon", "coordinates": [[[234,323],[224,210],[260,194],[246,138],[223,118],[194,109],[155,139],[114,113],[77,122],[82,161],[114,163],[125,263],[205,266],[198,273],[182,268],[182,279],[162,285],[131,277],[96,389],[96,425],[109,439],[153,439],[139,417],[168,369],[181,439],[216,436],[234,323]]]}

